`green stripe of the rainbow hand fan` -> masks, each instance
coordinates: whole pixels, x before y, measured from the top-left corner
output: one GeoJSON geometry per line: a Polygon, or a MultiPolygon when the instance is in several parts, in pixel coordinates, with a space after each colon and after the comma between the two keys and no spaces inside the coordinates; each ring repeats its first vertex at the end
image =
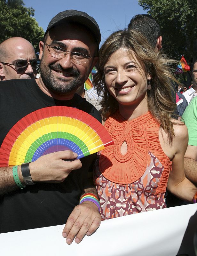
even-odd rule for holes
{"type": "MultiPolygon", "coordinates": [[[[78,137],[75,135],[68,133],[68,132],[50,132],[46,133],[43,136],[39,137],[37,140],[35,140],[32,145],[29,147],[27,154],[25,156],[25,162],[29,162],[29,158],[32,159],[35,153],[35,148],[40,147],[41,144],[45,143],[48,140],[51,139],[66,139],[74,142],[81,150],[83,153],[88,151],[87,146],[85,143],[80,140],[78,137]],[[40,143],[42,142],[42,143],[40,143]]],[[[47,144],[47,143],[46,143],[47,144]]],[[[88,154],[89,155],[89,154],[88,154]]]]}

